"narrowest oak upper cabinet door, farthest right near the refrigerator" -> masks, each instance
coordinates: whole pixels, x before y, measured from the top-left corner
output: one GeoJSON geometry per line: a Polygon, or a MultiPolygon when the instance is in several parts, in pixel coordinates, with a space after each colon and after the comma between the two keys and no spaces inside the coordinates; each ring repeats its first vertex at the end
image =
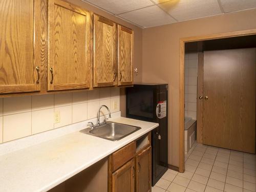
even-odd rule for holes
{"type": "Polygon", "coordinates": [[[118,86],[133,84],[133,36],[131,29],[118,25],[118,86]]]}

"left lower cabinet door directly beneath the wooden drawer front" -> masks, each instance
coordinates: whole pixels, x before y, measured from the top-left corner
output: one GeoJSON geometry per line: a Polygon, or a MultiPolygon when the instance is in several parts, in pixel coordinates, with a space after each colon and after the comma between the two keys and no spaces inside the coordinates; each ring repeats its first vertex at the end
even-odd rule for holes
{"type": "Polygon", "coordinates": [[[133,192],[135,189],[135,161],[125,163],[112,174],[112,192],[133,192]]]}

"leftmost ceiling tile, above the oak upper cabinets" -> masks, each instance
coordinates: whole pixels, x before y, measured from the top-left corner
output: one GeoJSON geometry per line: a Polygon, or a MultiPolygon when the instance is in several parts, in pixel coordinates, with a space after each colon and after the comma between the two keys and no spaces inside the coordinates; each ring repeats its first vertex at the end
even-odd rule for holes
{"type": "Polygon", "coordinates": [[[83,0],[114,14],[154,5],[150,0],[83,0]]]}

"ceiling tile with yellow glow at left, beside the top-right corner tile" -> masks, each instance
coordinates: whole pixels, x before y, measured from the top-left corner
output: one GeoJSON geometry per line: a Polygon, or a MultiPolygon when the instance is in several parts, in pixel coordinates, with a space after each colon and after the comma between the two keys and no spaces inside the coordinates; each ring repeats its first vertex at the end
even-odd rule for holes
{"type": "Polygon", "coordinates": [[[179,22],[221,14],[217,0],[170,1],[159,4],[159,6],[179,22]]]}

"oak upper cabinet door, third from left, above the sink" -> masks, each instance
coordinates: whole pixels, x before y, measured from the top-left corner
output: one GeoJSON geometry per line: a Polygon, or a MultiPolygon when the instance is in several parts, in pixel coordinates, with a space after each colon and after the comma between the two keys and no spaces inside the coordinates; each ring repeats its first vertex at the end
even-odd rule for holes
{"type": "Polygon", "coordinates": [[[93,87],[110,87],[116,80],[116,24],[94,14],[93,87]]]}

